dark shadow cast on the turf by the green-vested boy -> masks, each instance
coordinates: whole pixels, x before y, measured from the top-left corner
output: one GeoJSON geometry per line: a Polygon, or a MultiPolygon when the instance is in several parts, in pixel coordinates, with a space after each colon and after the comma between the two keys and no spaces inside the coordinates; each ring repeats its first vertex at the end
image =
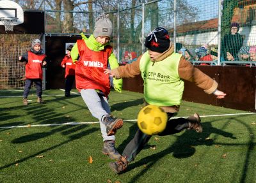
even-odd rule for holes
{"type": "MultiPolygon", "coordinates": [[[[227,138],[233,138],[233,139],[236,138],[232,133],[228,133],[221,129],[212,127],[211,122],[204,122],[203,127],[204,127],[203,133],[195,133],[195,131],[186,130],[180,136],[175,135],[177,137],[176,142],[170,145],[170,147],[168,147],[167,149],[162,150],[161,152],[158,152],[156,154],[152,154],[151,156],[144,157],[139,161],[137,161],[136,163],[132,163],[131,165],[129,165],[125,172],[129,172],[130,170],[138,166],[147,165],[145,169],[143,169],[136,176],[132,177],[132,179],[129,182],[136,182],[136,180],[138,180],[144,173],[146,173],[150,167],[154,166],[154,164],[159,159],[161,159],[162,157],[170,153],[173,153],[173,157],[175,158],[186,158],[186,157],[193,156],[193,154],[195,154],[196,152],[195,146],[197,145],[214,145],[214,142],[212,139],[205,140],[212,133],[216,135],[222,135],[227,138]]],[[[132,137],[133,137],[135,133],[134,126],[132,126],[131,130],[133,133],[132,134],[132,137]]],[[[127,138],[127,140],[125,141],[129,142],[129,140],[131,140],[131,138],[127,138]]],[[[123,145],[121,147],[123,147],[123,145]]]]}

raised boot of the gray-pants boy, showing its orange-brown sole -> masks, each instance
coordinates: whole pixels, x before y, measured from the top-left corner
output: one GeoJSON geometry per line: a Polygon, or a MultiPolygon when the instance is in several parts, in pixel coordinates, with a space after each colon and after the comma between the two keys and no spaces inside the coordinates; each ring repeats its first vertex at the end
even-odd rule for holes
{"type": "Polygon", "coordinates": [[[103,122],[106,125],[108,136],[115,135],[116,129],[122,128],[122,126],[124,124],[122,119],[118,119],[111,115],[106,115],[103,122]]]}

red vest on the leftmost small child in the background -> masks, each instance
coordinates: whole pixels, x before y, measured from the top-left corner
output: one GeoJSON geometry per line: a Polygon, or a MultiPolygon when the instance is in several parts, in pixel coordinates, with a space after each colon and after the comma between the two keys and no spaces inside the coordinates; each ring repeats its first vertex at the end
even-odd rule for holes
{"type": "Polygon", "coordinates": [[[28,79],[43,79],[42,63],[45,59],[45,54],[36,55],[28,51],[28,62],[26,63],[25,77],[28,79]]]}

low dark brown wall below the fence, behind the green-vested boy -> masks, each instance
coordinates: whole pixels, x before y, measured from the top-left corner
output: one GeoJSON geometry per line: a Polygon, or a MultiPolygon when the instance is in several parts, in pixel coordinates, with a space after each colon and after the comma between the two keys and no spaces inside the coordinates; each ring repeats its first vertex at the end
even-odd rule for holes
{"type": "MultiPolygon", "coordinates": [[[[255,112],[256,67],[246,66],[196,66],[214,78],[220,89],[227,93],[224,99],[205,94],[192,82],[185,82],[183,99],[196,103],[224,106],[239,110],[255,112]]],[[[143,92],[143,80],[140,75],[135,78],[124,78],[125,90],[143,92]]]]}

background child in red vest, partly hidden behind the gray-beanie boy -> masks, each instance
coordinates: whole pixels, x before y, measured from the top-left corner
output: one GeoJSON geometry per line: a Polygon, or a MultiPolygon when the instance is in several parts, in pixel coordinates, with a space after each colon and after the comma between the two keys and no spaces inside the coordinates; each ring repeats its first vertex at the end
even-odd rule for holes
{"type": "Polygon", "coordinates": [[[67,47],[67,55],[63,58],[60,66],[65,68],[65,96],[70,96],[70,91],[75,80],[75,69],[76,64],[73,63],[70,52],[73,48],[73,45],[67,47]]]}

